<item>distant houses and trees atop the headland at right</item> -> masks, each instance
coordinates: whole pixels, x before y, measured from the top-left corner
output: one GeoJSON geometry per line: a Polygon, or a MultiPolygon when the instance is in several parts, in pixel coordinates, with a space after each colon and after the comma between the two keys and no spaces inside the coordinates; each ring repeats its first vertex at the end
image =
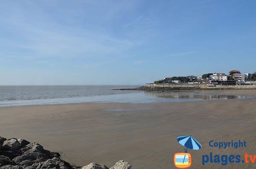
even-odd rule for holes
{"type": "Polygon", "coordinates": [[[256,72],[241,73],[239,70],[230,70],[229,74],[225,73],[207,73],[199,76],[174,76],[166,77],[154,81],[154,84],[207,84],[211,85],[256,85],[256,72]]]}

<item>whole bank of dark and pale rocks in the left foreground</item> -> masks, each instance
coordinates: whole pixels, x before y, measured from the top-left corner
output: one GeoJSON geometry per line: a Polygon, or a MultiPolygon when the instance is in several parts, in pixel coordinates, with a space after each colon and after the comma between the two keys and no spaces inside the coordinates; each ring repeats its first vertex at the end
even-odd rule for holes
{"type": "MultiPolygon", "coordinates": [[[[109,169],[107,166],[90,163],[87,166],[75,166],[61,160],[58,152],[45,150],[38,143],[23,139],[0,137],[0,169],[109,169]]],[[[133,169],[123,161],[118,161],[110,169],[133,169]]]]}

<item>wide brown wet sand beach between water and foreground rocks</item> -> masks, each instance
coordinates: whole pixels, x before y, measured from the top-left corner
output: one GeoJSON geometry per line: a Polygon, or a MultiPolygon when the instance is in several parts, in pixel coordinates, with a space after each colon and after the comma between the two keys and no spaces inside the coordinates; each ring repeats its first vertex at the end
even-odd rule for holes
{"type": "Polygon", "coordinates": [[[78,103],[0,107],[0,136],[36,141],[61,152],[70,163],[126,160],[134,169],[171,169],[173,155],[183,152],[179,135],[192,135],[202,144],[189,150],[192,169],[255,168],[252,163],[206,163],[202,155],[256,154],[256,90],[215,91],[246,95],[242,100],[204,100],[180,103],[78,103]],[[210,140],[245,140],[246,148],[218,149],[210,140]]]}

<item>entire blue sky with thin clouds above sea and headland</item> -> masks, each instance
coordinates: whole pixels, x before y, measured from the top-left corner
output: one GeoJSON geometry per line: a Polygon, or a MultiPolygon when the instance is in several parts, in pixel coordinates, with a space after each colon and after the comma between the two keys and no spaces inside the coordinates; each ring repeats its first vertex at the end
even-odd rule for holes
{"type": "Polygon", "coordinates": [[[255,0],[3,0],[0,85],[256,72],[255,0]]]}

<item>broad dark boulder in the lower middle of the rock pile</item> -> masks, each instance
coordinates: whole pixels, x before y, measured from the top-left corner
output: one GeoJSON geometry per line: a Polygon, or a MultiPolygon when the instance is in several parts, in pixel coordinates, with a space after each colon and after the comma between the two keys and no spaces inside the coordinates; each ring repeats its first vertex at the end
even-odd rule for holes
{"type": "Polygon", "coordinates": [[[13,159],[20,166],[32,166],[34,163],[40,163],[48,160],[49,157],[40,152],[26,153],[13,159]]]}

